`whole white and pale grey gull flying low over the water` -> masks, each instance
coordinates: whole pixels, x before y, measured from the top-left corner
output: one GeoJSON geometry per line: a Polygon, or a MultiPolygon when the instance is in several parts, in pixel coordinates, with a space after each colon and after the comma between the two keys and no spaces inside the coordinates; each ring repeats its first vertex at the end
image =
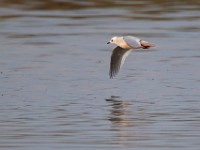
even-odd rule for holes
{"type": "Polygon", "coordinates": [[[130,54],[134,49],[148,49],[150,47],[154,47],[153,43],[141,40],[134,36],[114,36],[107,43],[113,43],[117,45],[116,48],[113,49],[110,61],[110,78],[113,78],[119,72],[120,68],[123,66],[126,57],[130,54]]]}

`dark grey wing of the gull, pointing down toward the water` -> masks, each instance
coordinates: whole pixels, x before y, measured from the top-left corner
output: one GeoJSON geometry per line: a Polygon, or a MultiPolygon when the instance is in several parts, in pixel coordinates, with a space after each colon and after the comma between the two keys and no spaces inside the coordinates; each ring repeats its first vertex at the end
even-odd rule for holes
{"type": "Polygon", "coordinates": [[[119,72],[130,52],[131,50],[123,49],[119,46],[113,50],[110,61],[110,78],[113,78],[119,72]]]}

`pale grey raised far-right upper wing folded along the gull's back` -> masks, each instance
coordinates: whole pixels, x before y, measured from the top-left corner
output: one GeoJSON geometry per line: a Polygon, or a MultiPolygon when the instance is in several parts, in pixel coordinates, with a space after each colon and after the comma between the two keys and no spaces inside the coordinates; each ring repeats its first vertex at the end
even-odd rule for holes
{"type": "Polygon", "coordinates": [[[141,47],[140,39],[134,36],[124,36],[123,40],[132,48],[141,47]]]}

